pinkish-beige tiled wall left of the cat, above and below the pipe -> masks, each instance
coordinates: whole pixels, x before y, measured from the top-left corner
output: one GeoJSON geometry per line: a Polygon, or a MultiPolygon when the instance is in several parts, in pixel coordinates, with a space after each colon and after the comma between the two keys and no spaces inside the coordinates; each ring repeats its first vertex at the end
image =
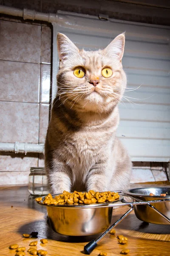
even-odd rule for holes
{"type": "MultiPolygon", "coordinates": [[[[50,25],[0,17],[0,142],[45,142],[50,78],[50,25]]],[[[0,185],[28,183],[42,158],[0,152],[0,185]]]]}

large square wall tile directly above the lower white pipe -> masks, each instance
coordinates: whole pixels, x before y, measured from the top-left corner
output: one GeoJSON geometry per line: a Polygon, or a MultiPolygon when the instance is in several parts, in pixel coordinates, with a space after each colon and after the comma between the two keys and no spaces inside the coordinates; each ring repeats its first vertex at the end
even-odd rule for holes
{"type": "Polygon", "coordinates": [[[0,102],[0,141],[38,143],[39,104],[0,102]]]}

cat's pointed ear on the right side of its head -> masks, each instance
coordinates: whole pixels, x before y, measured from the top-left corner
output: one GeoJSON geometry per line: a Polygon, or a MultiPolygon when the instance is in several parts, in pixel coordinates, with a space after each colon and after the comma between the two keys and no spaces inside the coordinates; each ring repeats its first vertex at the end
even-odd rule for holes
{"type": "Polygon", "coordinates": [[[118,58],[120,61],[123,58],[125,48],[125,35],[120,34],[111,41],[111,43],[104,49],[105,54],[118,58]]]}

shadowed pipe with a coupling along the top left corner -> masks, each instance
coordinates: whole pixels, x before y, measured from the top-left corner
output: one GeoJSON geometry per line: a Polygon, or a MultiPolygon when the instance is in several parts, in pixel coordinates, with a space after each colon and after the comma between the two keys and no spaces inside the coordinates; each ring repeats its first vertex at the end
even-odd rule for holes
{"type": "Polygon", "coordinates": [[[36,12],[35,10],[30,9],[17,9],[8,6],[0,5],[0,13],[12,16],[23,17],[24,20],[43,20],[47,22],[57,22],[58,17],[57,14],[54,13],[43,13],[36,12]]]}

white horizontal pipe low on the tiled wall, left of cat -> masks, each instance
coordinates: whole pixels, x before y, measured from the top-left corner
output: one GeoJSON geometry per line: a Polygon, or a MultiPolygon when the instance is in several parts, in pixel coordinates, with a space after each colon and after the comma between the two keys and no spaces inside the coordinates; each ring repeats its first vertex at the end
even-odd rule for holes
{"type": "Polygon", "coordinates": [[[42,153],[44,154],[44,144],[35,143],[6,143],[0,142],[0,151],[11,151],[17,153],[42,153]]]}

